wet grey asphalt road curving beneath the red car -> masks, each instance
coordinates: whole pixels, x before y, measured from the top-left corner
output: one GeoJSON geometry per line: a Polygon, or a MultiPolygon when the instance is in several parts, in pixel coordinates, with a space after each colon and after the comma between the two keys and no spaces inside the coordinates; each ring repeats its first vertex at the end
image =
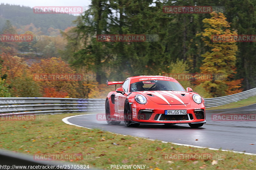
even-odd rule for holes
{"type": "Polygon", "coordinates": [[[212,121],[212,114],[256,114],[256,104],[234,109],[208,111],[206,109],[206,124],[196,129],[190,128],[188,124],[172,126],[140,124],[140,127],[137,128],[126,127],[124,123],[108,125],[106,121],[101,121],[99,118],[96,120],[96,115],[81,115],[69,118],[68,121],[79,126],[102,129],[118,134],[256,153],[256,121],[212,121]]]}

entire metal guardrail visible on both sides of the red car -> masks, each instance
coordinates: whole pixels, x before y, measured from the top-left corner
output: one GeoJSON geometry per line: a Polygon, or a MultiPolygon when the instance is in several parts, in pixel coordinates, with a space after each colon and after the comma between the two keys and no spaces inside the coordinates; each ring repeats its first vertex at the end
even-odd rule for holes
{"type": "MultiPolygon", "coordinates": [[[[217,107],[256,95],[256,88],[223,97],[204,99],[205,107],[217,107]]],[[[256,101],[255,101],[256,102],[256,101]]],[[[0,98],[0,115],[61,114],[105,110],[105,99],[0,98]]]]}

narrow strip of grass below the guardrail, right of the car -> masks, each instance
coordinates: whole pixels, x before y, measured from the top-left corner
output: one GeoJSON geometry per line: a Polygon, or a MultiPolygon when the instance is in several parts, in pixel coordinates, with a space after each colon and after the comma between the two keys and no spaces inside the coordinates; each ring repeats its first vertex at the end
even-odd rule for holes
{"type": "Polygon", "coordinates": [[[248,99],[240,100],[237,102],[229,103],[229,104],[218,106],[218,107],[206,108],[206,110],[231,109],[236,107],[248,106],[254,103],[256,103],[256,96],[252,96],[252,97],[249,97],[248,99]]]}

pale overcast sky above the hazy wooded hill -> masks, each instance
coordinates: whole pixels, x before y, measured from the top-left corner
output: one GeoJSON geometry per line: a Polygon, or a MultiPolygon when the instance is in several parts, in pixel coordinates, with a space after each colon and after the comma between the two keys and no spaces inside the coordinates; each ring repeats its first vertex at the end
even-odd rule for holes
{"type": "Polygon", "coordinates": [[[0,4],[12,4],[20,6],[83,6],[90,5],[91,0],[1,0],[0,4]]]}

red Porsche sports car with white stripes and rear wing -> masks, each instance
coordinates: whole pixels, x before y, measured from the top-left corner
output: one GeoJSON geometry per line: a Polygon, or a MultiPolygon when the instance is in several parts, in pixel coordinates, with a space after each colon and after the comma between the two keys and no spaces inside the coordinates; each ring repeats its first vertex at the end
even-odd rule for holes
{"type": "Polygon", "coordinates": [[[107,84],[122,84],[108,93],[105,103],[108,124],[188,123],[198,128],[206,123],[204,99],[189,87],[185,90],[174,78],[136,76],[125,81],[107,80],[107,84]]]}

